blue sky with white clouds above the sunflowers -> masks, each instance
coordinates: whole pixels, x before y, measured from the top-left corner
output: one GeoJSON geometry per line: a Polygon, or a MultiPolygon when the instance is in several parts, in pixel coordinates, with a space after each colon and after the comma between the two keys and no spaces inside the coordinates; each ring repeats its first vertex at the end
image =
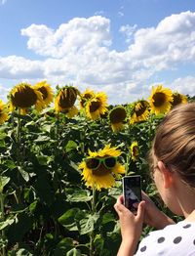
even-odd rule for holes
{"type": "Polygon", "coordinates": [[[0,0],[0,99],[47,80],[147,99],[152,87],[195,95],[194,0],[0,0]]]}

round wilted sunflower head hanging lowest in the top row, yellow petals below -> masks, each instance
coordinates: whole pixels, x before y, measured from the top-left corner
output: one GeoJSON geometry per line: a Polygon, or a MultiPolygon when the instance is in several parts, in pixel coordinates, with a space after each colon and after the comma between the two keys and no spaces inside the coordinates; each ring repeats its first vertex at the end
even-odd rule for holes
{"type": "Polygon", "coordinates": [[[122,106],[114,107],[109,111],[108,119],[113,132],[119,132],[124,128],[126,116],[126,108],[122,106]]]}

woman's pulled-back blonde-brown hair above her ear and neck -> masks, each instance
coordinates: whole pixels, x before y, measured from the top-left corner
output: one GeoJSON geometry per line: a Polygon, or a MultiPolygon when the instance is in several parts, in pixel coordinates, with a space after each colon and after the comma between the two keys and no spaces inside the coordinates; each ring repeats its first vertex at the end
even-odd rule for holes
{"type": "Polygon", "coordinates": [[[153,161],[154,155],[195,188],[195,103],[181,104],[166,115],[150,151],[153,161]]]}

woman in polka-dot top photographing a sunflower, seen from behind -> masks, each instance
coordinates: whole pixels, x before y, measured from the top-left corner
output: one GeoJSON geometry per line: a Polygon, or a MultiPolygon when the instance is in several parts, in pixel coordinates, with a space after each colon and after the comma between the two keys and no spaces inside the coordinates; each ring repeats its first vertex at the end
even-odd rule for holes
{"type": "Polygon", "coordinates": [[[195,104],[173,108],[157,129],[150,151],[150,167],[165,204],[184,220],[175,222],[143,192],[134,215],[121,195],[114,205],[122,242],[118,256],[195,255],[195,104]],[[145,223],[158,231],[137,243],[145,223]],[[136,252],[137,250],[137,252],[136,252]]]}

